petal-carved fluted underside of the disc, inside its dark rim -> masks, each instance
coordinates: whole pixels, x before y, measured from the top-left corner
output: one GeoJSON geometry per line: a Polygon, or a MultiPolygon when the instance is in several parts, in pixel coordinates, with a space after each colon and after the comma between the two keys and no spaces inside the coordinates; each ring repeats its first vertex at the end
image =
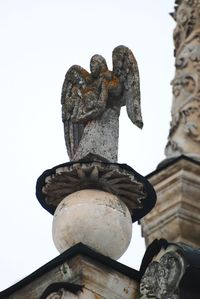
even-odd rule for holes
{"type": "Polygon", "coordinates": [[[46,177],[43,194],[48,205],[57,205],[69,194],[84,189],[99,189],[117,195],[134,213],[143,207],[145,186],[120,165],[102,162],[74,163],[59,167],[46,177]]]}

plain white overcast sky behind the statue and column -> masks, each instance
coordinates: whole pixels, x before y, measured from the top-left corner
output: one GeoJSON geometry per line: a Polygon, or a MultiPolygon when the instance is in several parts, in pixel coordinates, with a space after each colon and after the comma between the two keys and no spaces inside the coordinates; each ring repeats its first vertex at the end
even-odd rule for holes
{"type": "MultiPolygon", "coordinates": [[[[132,49],[141,78],[144,128],[121,113],[119,162],[142,175],[164,159],[174,74],[173,0],[1,0],[0,290],[58,255],[52,216],[35,196],[37,178],[68,161],[60,93],[69,67],[93,54],[112,69],[114,47],[132,49]]],[[[120,259],[139,268],[140,228],[120,259]]]]}

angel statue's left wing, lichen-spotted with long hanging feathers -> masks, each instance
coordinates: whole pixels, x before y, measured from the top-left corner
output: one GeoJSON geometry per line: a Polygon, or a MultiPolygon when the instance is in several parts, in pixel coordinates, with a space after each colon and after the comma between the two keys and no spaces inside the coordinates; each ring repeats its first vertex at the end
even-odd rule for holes
{"type": "Polygon", "coordinates": [[[67,71],[63,82],[61,94],[62,120],[64,123],[65,143],[70,160],[73,160],[84,130],[84,124],[72,122],[72,117],[80,108],[79,94],[87,86],[88,77],[89,73],[85,69],[81,66],[73,65],[67,71]]]}

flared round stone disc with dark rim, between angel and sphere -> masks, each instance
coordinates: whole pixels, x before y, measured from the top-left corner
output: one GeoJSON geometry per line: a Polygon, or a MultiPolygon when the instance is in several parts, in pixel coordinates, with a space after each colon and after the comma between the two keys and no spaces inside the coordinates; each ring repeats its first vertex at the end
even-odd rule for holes
{"type": "Polygon", "coordinates": [[[87,189],[109,192],[125,203],[137,221],[155,205],[151,184],[126,164],[100,161],[68,162],[46,170],[37,180],[36,196],[51,214],[68,195],[87,189]]]}

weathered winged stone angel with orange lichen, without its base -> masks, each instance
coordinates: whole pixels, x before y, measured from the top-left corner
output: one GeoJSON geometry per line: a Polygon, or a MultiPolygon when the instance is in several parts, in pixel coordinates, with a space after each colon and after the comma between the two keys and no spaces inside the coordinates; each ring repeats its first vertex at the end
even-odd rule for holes
{"type": "Polygon", "coordinates": [[[62,88],[62,120],[71,161],[117,162],[120,108],[126,105],[133,124],[142,128],[140,81],[131,50],[113,50],[113,71],[94,55],[90,73],[73,65],[62,88]]]}

